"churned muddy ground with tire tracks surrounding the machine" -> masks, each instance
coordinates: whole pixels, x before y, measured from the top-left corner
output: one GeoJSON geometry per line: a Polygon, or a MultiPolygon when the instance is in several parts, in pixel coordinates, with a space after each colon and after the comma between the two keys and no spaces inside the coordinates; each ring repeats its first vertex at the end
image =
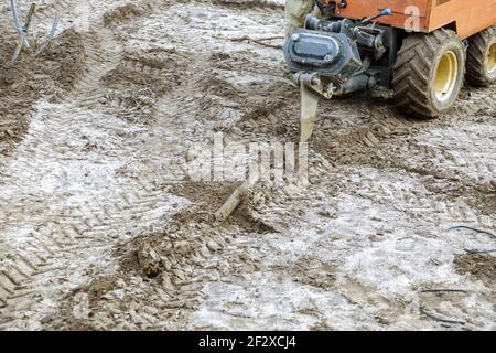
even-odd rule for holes
{"type": "Polygon", "coordinates": [[[496,329],[496,87],[436,120],[323,103],[310,184],[220,224],[239,182],[187,168],[214,133],[298,138],[283,1],[36,2],[62,25],[15,65],[1,8],[1,329],[496,329]]]}

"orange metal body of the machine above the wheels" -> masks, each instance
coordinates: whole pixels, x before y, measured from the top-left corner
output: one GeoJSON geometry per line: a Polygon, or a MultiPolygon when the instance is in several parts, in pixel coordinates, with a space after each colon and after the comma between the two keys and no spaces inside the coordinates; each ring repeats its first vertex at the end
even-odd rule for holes
{"type": "Polygon", "coordinates": [[[363,19],[391,9],[379,23],[430,33],[443,26],[468,38],[496,23],[496,0],[348,0],[336,13],[349,19],[363,19]]]}

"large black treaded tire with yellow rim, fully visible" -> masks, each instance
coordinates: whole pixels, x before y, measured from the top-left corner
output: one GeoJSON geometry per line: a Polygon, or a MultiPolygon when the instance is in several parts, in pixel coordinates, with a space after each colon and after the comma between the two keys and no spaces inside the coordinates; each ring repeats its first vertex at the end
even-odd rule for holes
{"type": "Polygon", "coordinates": [[[411,34],[403,40],[395,64],[392,88],[398,108],[414,116],[438,117],[455,104],[464,76],[465,50],[455,32],[441,29],[411,34]],[[445,83],[440,79],[444,76],[445,83]]]}

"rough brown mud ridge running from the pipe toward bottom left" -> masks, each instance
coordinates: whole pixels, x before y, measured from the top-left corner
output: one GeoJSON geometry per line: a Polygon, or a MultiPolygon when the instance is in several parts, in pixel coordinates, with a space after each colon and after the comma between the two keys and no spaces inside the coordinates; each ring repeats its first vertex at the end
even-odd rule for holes
{"type": "Polygon", "coordinates": [[[110,318],[116,306],[139,306],[141,310],[145,310],[143,307],[148,307],[145,302],[151,302],[150,300],[154,309],[148,310],[157,310],[155,318],[140,323],[136,319],[142,319],[141,313],[128,320],[128,325],[140,329],[160,328],[160,320],[180,319],[174,319],[177,315],[176,309],[182,309],[181,319],[184,320],[183,315],[197,308],[202,298],[198,291],[202,281],[211,276],[218,276],[216,272],[228,270],[217,269],[218,264],[208,264],[212,255],[222,255],[237,232],[273,231],[261,222],[257,227],[257,223],[247,220],[246,211],[242,210],[238,210],[227,224],[215,223],[213,211],[222,205],[235,185],[186,182],[170,188],[171,192],[188,197],[194,204],[173,215],[162,231],[139,236],[117,247],[115,256],[120,259],[117,272],[75,289],[66,297],[66,307],[61,310],[61,315],[51,321],[52,327],[108,329],[106,323],[110,327],[119,325],[119,322],[110,318]],[[134,286],[132,284],[136,284],[137,276],[141,278],[141,285],[136,295],[132,295],[126,288],[134,286]],[[74,318],[74,304],[69,304],[80,293],[87,296],[89,302],[86,320],[74,318]],[[119,298],[115,297],[117,295],[119,298]]]}

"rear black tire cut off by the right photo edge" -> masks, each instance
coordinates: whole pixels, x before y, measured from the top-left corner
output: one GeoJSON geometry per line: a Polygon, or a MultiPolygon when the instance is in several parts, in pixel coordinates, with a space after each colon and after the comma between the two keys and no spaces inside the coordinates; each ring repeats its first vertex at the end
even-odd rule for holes
{"type": "Polygon", "coordinates": [[[487,87],[496,82],[496,25],[468,39],[466,78],[475,86],[487,87]],[[489,62],[488,58],[492,61],[489,62]],[[492,65],[489,65],[492,63],[492,65]],[[492,67],[489,67],[489,66],[492,67]]]}

